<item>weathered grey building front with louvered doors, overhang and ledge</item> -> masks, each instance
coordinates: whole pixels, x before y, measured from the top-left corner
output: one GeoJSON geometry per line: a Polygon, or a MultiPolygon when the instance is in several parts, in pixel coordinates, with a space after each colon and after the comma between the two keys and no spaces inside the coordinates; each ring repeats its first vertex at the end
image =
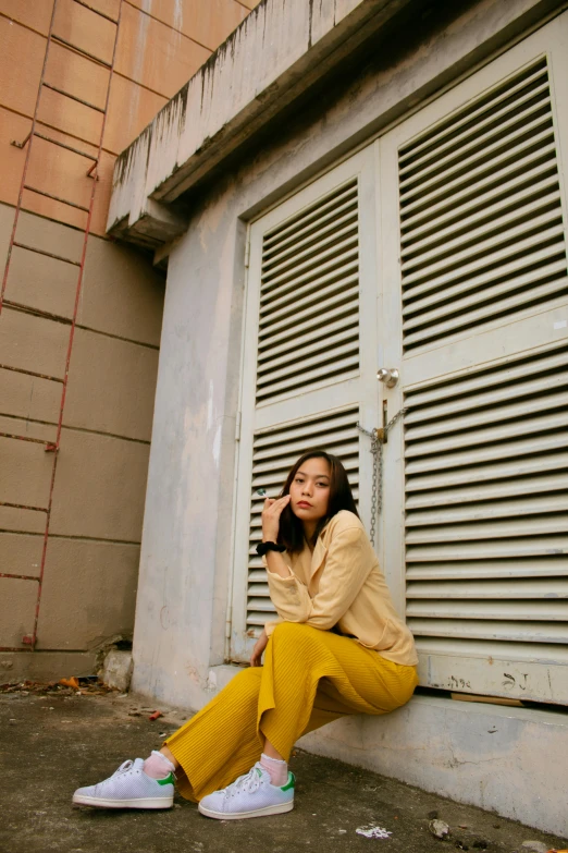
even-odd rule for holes
{"type": "Polygon", "coordinates": [[[256,490],[323,444],[421,693],[306,745],[560,834],[565,7],[263,0],[121,155],[109,215],[169,257],[135,689],[195,709],[246,661],[256,490]],[[360,427],[387,425],[374,485],[360,427]]]}

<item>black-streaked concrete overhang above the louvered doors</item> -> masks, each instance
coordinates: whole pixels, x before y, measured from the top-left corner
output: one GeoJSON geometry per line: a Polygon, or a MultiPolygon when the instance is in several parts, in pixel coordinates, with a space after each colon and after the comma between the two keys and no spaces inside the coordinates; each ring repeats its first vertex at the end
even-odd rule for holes
{"type": "MultiPolygon", "coordinates": [[[[108,230],[158,247],[174,202],[417,0],[263,0],[121,154],[108,230]]],[[[175,228],[173,229],[175,230],[175,228]]]]}

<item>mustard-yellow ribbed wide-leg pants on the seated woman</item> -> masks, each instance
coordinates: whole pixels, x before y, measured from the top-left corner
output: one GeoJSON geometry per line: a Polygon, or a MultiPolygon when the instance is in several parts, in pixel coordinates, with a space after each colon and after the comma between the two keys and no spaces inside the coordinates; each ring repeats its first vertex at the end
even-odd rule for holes
{"type": "Polygon", "coordinates": [[[288,760],[302,734],[348,714],[387,714],[413,693],[416,667],[393,663],[350,637],[283,622],[264,665],[242,670],[165,745],[187,800],[225,788],[259,760],[264,739],[288,760]]]}

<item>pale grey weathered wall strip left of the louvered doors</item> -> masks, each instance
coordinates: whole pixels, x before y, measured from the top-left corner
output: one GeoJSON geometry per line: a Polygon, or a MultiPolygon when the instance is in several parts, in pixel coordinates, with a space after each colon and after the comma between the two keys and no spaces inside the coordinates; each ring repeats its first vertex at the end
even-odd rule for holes
{"type": "Polygon", "coordinates": [[[170,261],[135,623],[135,690],[190,707],[225,651],[244,228],[224,200],[170,261]]]}

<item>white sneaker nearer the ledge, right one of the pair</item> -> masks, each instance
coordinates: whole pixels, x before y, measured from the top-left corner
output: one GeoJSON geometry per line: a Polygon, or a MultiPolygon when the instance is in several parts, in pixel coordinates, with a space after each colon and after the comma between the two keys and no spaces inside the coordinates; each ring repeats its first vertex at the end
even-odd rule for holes
{"type": "Polygon", "coordinates": [[[294,808],[294,773],[282,788],[272,784],[270,773],[257,763],[233,784],[203,796],[199,811],[207,817],[220,820],[238,820],[243,817],[281,815],[294,808]]]}

